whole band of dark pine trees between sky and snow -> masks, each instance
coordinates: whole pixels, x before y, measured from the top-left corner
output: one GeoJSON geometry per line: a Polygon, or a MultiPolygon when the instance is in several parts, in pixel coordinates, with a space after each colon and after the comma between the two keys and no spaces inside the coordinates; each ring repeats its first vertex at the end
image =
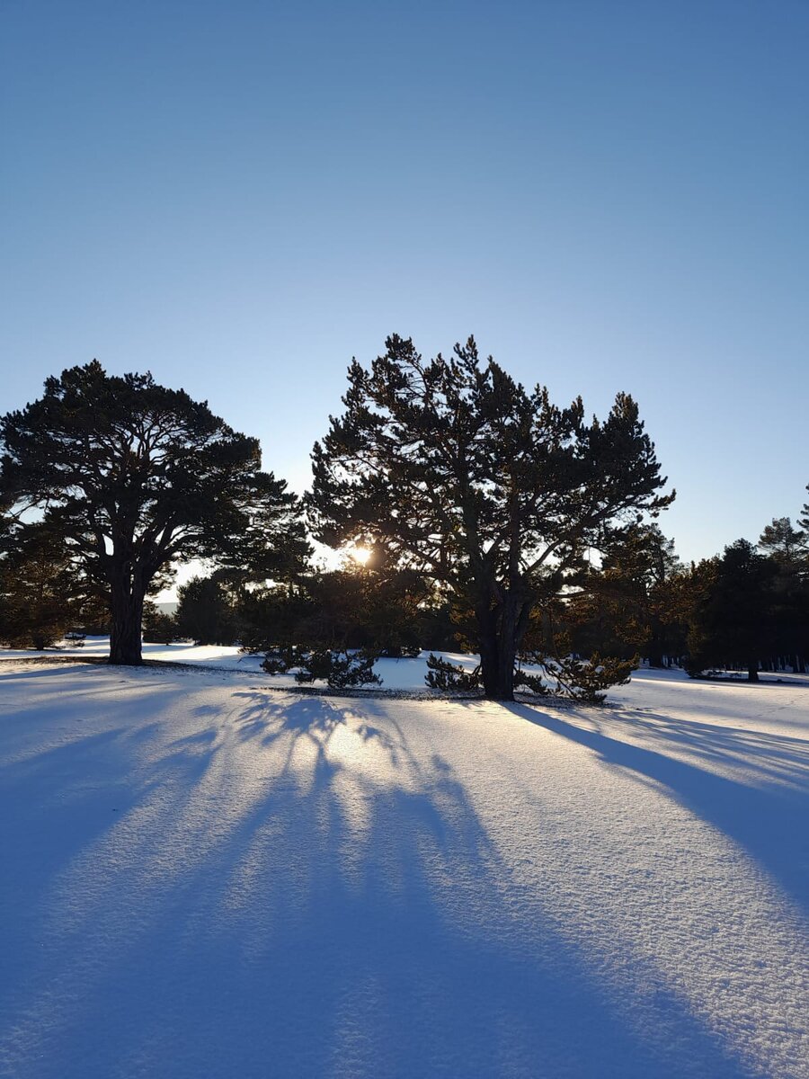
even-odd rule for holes
{"type": "Polygon", "coordinates": [[[148,373],[93,361],[49,379],[0,420],[0,642],[109,632],[125,664],[141,632],[238,643],[270,673],[343,687],[373,683],[379,656],[426,650],[428,685],[506,700],[598,701],[639,657],[696,677],[806,669],[809,505],[683,565],[629,396],[588,421],[472,339],[425,360],[392,337],[370,369],[352,364],[343,404],[298,498],[255,439],[148,373]],[[367,560],[318,569],[308,535],[367,560]],[[193,558],[215,570],[169,616],[153,597],[193,558]]]}

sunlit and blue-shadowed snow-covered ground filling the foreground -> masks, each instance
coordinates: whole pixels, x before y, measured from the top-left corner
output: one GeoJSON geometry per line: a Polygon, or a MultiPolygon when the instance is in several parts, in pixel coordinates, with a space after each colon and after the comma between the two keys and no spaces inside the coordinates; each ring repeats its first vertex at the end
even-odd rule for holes
{"type": "Polygon", "coordinates": [[[5,656],[0,1075],[809,1077],[806,684],[5,656]]]}

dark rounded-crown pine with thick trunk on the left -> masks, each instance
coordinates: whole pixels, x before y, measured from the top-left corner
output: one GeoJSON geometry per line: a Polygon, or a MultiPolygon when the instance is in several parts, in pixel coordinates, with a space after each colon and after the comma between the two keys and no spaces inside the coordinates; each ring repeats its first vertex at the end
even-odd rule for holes
{"type": "Polygon", "coordinates": [[[151,374],[94,360],[0,421],[0,502],[39,508],[110,597],[110,663],[141,663],[150,585],[190,558],[303,558],[296,500],[260,469],[256,439],[151,374]]]}

